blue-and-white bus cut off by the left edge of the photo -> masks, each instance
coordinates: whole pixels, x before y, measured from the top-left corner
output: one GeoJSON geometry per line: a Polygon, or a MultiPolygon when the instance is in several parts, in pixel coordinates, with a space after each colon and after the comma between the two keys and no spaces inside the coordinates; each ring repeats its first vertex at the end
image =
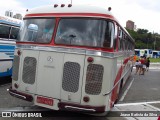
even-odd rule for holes
{"type": "Polygon", "coordinates": [[[0,79],[12,75],[15,40],[18,37],[21,21],[0,16],[0,79]]]}

